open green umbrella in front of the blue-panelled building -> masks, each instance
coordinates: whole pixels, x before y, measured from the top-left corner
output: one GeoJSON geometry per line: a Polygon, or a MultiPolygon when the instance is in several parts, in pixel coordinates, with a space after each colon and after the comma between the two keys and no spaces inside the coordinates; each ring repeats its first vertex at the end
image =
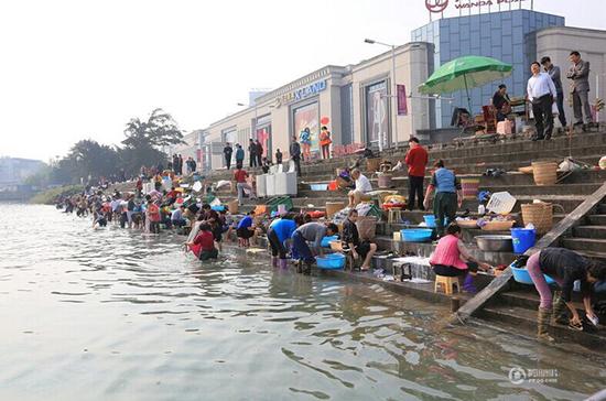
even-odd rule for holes
{"type": "Polygon", "coordinates": [[[448,94],[465,89],[472,112],[469,88],[476,88],[493,80],[511,75],[512,66],[491,57],[464,56],[455,58],[439,69],[419,87],[425,95],[448,94]]]}

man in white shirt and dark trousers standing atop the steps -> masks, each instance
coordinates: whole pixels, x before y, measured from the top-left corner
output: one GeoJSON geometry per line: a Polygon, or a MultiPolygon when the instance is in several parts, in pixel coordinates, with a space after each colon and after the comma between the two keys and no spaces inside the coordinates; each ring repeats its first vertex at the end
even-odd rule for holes
{"type": "Polygon", "coordinates": [[[532,140],[549,140],[553,132],[551,105],[558,98],[558,91],[549,74],[541,73],[541,65],[538,62],[532,63],[530,71],[532,76],[528,79],[527,94],[528,100],[532,104],[537,128],[537,134],[532,137],[532,140]]]}

